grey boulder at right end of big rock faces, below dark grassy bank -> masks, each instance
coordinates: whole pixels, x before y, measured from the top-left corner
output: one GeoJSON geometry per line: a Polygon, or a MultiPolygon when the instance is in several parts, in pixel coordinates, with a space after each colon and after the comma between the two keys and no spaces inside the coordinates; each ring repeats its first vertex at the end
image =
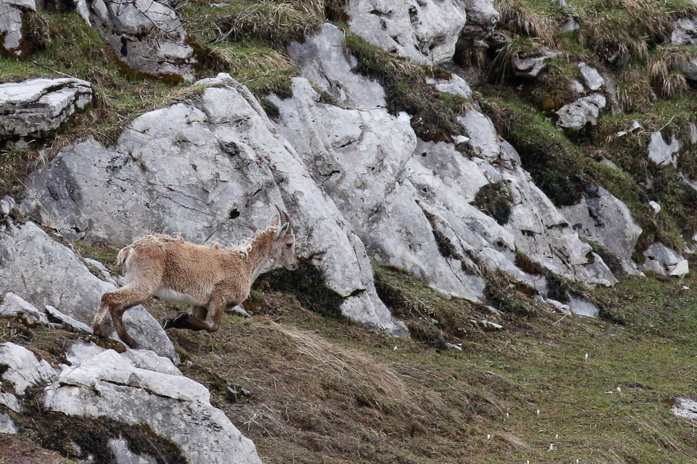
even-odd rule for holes
{"type": "Polygon", "coordinates": [[[625,272],[639,273],[631,255],[641,227],[634,222],[629,208],[610,192],[602,186],[591,186],[578,205],[562,207],[560,212],[579,236],[600,243],[614,253],[625,272]]]}

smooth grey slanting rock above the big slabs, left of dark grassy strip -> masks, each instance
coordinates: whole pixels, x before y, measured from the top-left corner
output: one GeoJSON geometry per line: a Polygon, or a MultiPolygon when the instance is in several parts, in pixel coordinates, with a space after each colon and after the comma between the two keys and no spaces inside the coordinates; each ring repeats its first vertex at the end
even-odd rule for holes
{"type": "Polygon", "coordinates": [[[302,44],[292,42],[288,53],[293,63],[337,103],[358,109],[384,108],[385,89],[376,81],[353,72],[358,64],[346,53],[344,33],[334,24],[323,24],[302,44]]]}

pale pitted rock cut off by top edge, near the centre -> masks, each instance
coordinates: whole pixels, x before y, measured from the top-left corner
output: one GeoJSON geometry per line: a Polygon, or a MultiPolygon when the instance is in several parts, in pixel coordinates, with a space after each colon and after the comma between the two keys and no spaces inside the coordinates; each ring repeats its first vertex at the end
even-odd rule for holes
{"type": "Polygon", "coordinates": [[[351,31],[418,63],[450,60],[466,24],[463,0],[352,0],[346,13],[351,31]]]}

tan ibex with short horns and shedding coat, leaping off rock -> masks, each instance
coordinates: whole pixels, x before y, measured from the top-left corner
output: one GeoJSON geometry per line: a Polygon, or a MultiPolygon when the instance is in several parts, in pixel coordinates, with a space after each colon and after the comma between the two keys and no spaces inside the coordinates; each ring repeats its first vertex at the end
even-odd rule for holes
{"type": "Polygon", "coordinates": [[[257,231],[239,247],[201,246],[168,235],[146,235],[118,252],[116,266],[123,269],[125,285],[102,295],[94,333],[108,336],[104,322],[111,314],[118,337],[137,348],[123,326],[123,313],[152,296],[192,305],[192,314],[166,318],[163,328],[215,332],[225,308],[250,296],[252,282],[271,260],[290,271],[298,269],[291,218],[280,209],[266,230],[257,231]]]}

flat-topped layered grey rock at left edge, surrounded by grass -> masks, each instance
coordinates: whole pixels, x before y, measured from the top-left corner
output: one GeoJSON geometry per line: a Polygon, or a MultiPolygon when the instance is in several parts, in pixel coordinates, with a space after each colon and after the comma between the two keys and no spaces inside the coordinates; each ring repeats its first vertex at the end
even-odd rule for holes
{"type": "Polygon", "coordinates": [[[1,83],[0,141],[46,136],[91,101],[92,86],[80,79],[1,83]]]}

